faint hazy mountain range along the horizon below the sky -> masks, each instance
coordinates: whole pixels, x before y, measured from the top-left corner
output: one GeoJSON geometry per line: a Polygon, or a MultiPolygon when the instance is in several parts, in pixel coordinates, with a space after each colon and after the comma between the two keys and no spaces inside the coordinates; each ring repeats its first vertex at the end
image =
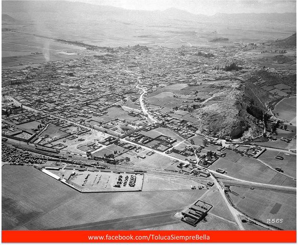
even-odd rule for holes
{"type": "MultiPolygon", "coordinates": [[[[2,1],[2,13],[59,13],[100,15],[101,17],[127,18],[127,20],[141,19],[178,19],[204,22],[276,22],[296,23],[296,13],[217,13],[212,16],[193,14],[184,10],[170,8],[164,11],[128,10],[123,8],[93,5],[68,1],[2,1]]],[[[143,22],[143,21],[142,21],[143,22]]]]}

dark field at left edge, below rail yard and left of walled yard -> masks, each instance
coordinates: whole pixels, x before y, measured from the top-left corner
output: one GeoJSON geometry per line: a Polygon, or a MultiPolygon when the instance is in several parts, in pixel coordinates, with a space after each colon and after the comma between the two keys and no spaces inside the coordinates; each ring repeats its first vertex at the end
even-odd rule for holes
{"type": "Polygon", "coordinates": [[[59,205],[78,192],[32,166],[2,167],[2,229],[10,230],[59,205]]]}

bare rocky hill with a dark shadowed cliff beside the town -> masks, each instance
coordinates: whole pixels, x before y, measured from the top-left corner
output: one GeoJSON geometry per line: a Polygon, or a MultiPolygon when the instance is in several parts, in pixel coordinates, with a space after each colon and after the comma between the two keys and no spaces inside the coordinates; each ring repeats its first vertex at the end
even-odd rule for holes
{"type": "Polygon", "coordinates": [[[193,112],[201,119],[201,130],[207,129],[208,133],[221,138],[256,137],[262,134],[258,119],[247,112],[251,101],[245,86],[238,81],[218,87],[220,91],[193,112]]]}

